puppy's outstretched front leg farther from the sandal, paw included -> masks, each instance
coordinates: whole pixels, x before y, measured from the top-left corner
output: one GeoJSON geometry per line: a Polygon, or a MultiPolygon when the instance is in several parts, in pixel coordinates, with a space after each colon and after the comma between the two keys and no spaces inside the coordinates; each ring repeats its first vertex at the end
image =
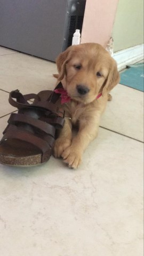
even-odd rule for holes
{"type": "Polygon", "coordinates": [[[71,145],[65,149],[62,153],[64,162],[69,167],[76,169],[82,162],[82,155],[89,145],[89,143],[97,137],[99,127],[100,116],[97,119],[90,120],[89,122],[83,121],[79,126],[79,131],[76,137],[73,138],[71,145]]]}

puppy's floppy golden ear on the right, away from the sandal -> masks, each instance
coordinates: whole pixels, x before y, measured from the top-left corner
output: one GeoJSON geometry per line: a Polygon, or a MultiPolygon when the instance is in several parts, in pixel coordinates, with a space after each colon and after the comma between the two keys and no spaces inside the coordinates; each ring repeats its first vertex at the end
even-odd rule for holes
{"type": "Polygon", "coordinates": [[[103,86],[102,95],[106,92],[111,91],[119,82],[119,73],[117,71],[117,63],[113,59],[112,65],[108,77],[106,79],[105,85],[103,86]]]}

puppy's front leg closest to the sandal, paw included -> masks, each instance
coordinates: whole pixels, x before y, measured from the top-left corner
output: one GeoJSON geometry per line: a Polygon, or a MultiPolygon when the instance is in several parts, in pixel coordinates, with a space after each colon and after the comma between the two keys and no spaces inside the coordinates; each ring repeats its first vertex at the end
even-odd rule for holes
{"type": "Polygon", "coordinates": [[[72,125],[70,119],[65,119],[65,124],[60,131],[59,138],[55,141],[53,154],[55,157],[60,157],[63,151],[71,145],[72,125]]]}

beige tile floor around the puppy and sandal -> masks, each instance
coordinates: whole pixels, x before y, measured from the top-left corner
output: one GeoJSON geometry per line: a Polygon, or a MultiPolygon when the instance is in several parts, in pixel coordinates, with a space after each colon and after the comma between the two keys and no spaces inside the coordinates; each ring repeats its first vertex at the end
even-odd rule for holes
{"type": "MultiPolygon", "coordinates": [[[[0,133],[12,90],[52,89],[54,63],[0,47],[0,133]]],[[[0,165],[0,254],[142,256],[143,93],[113,90],[78,170],[0,165]]]]}

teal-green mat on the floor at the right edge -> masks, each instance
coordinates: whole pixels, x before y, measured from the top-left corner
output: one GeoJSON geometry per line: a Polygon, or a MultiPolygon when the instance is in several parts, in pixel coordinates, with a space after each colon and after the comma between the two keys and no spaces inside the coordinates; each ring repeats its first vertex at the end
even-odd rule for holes
{"type": "Polygon", "coordinates": [[[127,69],[120,74],[120,84],[129,86],[143,92],[143,63],[128,66],[127,69]]]}

